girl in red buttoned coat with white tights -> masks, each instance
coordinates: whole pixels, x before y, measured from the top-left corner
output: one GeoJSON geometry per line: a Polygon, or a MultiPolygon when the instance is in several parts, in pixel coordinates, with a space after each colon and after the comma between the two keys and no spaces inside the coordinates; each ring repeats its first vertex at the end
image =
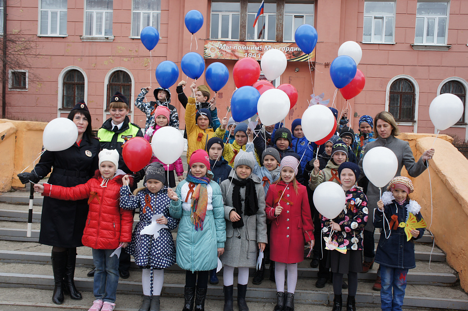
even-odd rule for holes
{"type": "Polygon", "coordinates": [[[271,221],[270,259],[275,261],[276,296],[274,311],[294,311],[298,262],[304,260],[304,244],[314,246],[314,225],[307,189],[296,181],[299,161],[294,156],[281,160],[281,174],[267,192],[266,213],[271,221]],[[284,270],[288,269],[288,292],[284,292],[284,270]],[[286,302],[285,302],[286,298],[286,302]]]}

